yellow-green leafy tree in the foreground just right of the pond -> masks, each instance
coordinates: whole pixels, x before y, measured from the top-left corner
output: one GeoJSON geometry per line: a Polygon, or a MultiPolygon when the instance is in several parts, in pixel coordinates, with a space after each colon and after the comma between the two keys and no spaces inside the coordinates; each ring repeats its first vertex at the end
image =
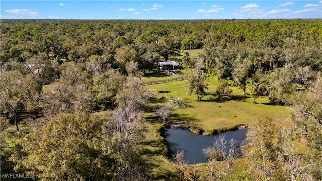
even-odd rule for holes
{"type": "Polygon", "coordinates": [[[272,119],[257,120],[249,128],[243,147],[251,173],[267,181],[283,179],[280,175],[282,162],[278,159],[278,147],[274,142],[276,132],[272,119]]]}

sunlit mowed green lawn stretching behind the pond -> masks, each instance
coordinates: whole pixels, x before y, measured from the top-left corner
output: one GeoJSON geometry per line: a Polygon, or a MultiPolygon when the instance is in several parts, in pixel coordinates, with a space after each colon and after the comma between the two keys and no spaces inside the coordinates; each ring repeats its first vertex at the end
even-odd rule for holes
{"type": "Polygon", "coordinates": [[[273,106],[269,104],[267,97],[260,97],[257,104],[252,103],[252,98],[237,87],[232,89],[231,99],[218,99],[215,95],[219,82],[209,79],[209,95],[197,102],[195,94],[188,95],[187,81],[174,81],[169,83],[144,86],[145,91],[153,92],[156,98],[179,96],[186,100],[189,105],[186,109],[173,110],[173,122],[193,121],[196,126],[201,127],[206,133],[211,133],[214,129],[225,129],[240,124],[252,124],[256,119],[270,117],[278,126],[286,125],[284,122],[289,117],[289,112],[285,106],[273,106]]]}

